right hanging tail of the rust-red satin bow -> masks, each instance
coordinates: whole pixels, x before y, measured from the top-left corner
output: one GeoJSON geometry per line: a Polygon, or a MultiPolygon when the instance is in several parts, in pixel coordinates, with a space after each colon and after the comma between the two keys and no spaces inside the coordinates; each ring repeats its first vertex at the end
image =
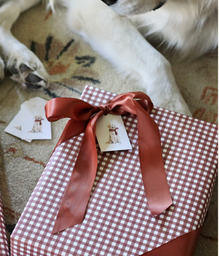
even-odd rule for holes
{"type": "Polygon", "coordinates": [[[135,101],[138,147],[147,202],[153,215],[173,204],[163,164],[160,132],[153,118],[135,101]]]}

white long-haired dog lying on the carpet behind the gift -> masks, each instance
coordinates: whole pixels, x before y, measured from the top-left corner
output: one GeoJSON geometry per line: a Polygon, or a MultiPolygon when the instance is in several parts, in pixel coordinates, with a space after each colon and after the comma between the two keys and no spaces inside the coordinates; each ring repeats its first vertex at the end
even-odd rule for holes
{"type": "MultiPolygon", "coordinates": [[[[0,78],[31,88],[46,87],[39,59],[18,42],[10,28],[20,13],[41,0],[0,0],[0,78]]],[[[67,7],[72,30],[119,71],[137,80],[156,106],[191,115],[169,62],[149,43],[161,39],[183,56],[198,57],[217,47],[217,0],[49,0],[67,7]],[[146,39],[147,40],[146,40],[146,39]]]]}

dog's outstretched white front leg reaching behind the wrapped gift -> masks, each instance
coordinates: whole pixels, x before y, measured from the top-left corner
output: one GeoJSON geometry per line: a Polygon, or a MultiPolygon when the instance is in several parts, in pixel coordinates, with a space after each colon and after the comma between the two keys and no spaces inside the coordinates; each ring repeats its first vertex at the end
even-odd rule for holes
{"type": "Polygon", "coordinates": [[[171,66],[131,21],[100,0],[69,1],[68,23],[119,70],[137,80],[156,106],[191,116],[171,66]]]}

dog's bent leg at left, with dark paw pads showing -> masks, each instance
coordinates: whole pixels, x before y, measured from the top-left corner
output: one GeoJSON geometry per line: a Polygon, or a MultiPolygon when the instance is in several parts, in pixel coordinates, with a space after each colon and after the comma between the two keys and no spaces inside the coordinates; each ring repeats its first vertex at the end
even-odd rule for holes
{"type": "Polygon", "coordinates": [[[13,37],[12,24],[20,13],[39,3],[40,0],[7,0],[0,6],[0,50],[11,78],[30,88],[48,85],[48,75],[37,56],[13,37]]]}

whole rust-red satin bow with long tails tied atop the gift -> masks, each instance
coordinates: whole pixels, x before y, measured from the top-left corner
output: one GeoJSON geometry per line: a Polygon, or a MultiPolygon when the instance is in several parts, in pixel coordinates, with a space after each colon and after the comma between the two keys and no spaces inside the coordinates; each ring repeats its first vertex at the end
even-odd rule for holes
{"type": "Polygon", "coordinates": [[[56,147],[85,132],[52,233],[83,221],[97,171],[96,122],[108,113],[137,116],[139,162],[151,213],[157,215],[173,203],[163,165],[160,132],[149,115],[152,109],[151,99],[142,92],[117,95],[107,104],[98,107],[73,98],[55,98],[46,104],[46,118],[50,122],[71,118],[56,147]]]}

